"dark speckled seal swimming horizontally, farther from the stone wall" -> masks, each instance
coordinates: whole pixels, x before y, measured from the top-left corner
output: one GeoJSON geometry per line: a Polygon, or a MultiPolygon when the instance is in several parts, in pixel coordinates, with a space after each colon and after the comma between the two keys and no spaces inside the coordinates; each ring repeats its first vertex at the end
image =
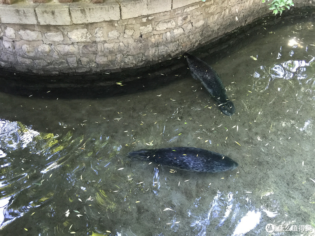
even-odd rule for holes
{"type": "Polygon", "coordinates": [[[216,173],[231,171],[238,163],[219,153],[201,148],[175,147],[142,149],[128,153],[133,160],[150,161],[181,170],[216,173]]]}

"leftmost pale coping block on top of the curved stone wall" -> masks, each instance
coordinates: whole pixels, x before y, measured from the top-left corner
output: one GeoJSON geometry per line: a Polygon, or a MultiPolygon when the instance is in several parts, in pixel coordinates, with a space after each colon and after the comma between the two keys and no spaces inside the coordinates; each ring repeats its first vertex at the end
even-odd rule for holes
{"type": "Polygon", "coordinates": [[[16,3],[13,5],[0,6],[0,19],[4,24],[31,24],[36,25],[36,14],[34,8],[38,4],[16,3]]]}

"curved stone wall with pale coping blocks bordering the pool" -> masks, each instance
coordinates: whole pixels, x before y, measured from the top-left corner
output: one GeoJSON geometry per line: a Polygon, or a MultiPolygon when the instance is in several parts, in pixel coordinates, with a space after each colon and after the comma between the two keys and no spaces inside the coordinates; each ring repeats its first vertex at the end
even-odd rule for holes
{"type": "MultiPolygon", "coordinates": [[[[294,1],[297,7],[312,5],[294,1]]],[[[119,71],[197,48],[269,14],[261,0],[0,5],[0,65],[31,74],[119,71]]]]}

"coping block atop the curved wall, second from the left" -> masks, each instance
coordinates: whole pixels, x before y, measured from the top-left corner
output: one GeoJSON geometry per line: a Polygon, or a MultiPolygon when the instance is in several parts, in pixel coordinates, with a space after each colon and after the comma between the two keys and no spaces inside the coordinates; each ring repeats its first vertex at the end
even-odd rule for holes
{"type": "Polygon", "coordinates": [[[70,25],[69,7],[60,4],[47,3],[35,8],[40,25],[70,25]]]}

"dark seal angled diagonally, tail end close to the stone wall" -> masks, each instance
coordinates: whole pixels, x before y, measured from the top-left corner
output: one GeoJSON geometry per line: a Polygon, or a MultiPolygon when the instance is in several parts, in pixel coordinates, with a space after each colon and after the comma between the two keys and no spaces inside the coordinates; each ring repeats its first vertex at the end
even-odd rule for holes
{"type": "Polygon", "coordinates": [[[192,77],[200,80],[203,86],[219,103],[219,108],[225,115],[233,115],[235,107],[232,101],[226,96],[226,90],[218,74],[207,63],[199,58],[185,53],[188,67],[192,77]]]}

